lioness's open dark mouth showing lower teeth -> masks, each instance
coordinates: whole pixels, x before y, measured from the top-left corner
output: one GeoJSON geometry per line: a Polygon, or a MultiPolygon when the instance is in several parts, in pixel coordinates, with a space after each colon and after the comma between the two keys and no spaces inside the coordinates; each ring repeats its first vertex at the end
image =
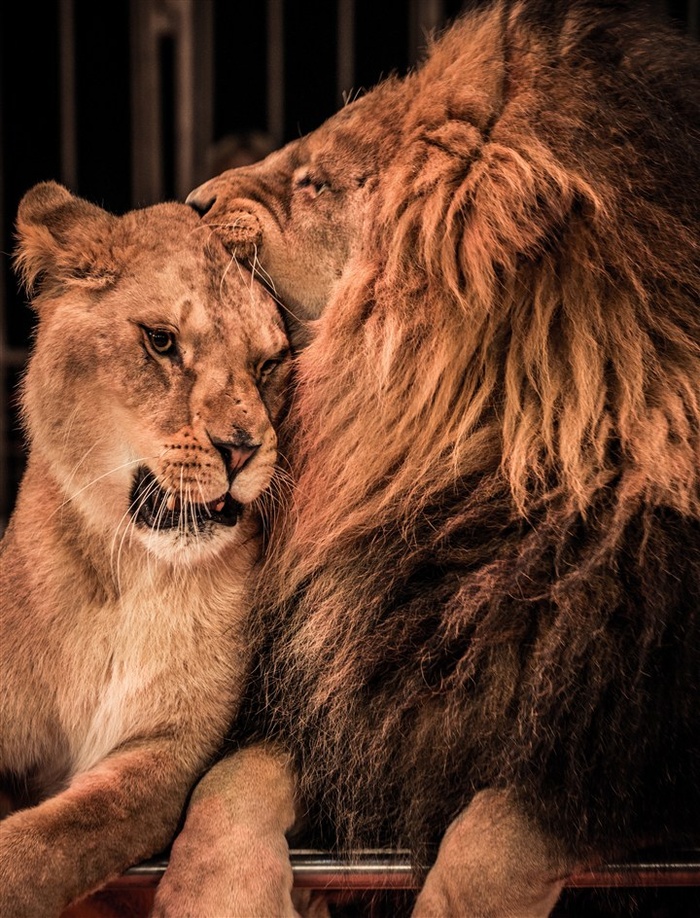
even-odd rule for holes
{"type": "Polygon", "coordinates": [[[226,492],[207,503],[187,501],[164,491],[155,476],[141,466],[134,476],[131,511],[137,523],[151,529],[201,529],[206,523],[235,526],[243,507],[226,492]]]}

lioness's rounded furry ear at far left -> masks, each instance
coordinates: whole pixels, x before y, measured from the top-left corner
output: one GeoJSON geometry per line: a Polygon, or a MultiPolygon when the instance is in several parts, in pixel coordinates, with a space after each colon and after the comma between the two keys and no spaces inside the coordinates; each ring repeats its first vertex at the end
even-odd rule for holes
{"type": "Polygon", "coordinates": [[[109,245],[112,214],[72,195],[57,182],[40,182],[17,211],[14,266],[28,293],[66,285],[109,286],[117,263],[109,245]]]}

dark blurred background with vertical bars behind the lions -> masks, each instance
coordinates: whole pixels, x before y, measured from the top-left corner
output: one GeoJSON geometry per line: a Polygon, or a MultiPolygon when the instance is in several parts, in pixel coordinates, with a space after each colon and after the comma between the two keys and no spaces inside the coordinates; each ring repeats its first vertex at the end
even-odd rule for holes
{"type": "MultiPolygon", "coordinates": [[[[654,0],[698,37],[700,0],[654,0]]],[[[462,0],[4,0],[0,7],[0,533],[24,467],[15,392],[32,313],[17,204],[56,179],[120,213],[317,127],[422,54],[462,0]]],[[[474,0],[471,0],[474,5],[474,0]]]]}

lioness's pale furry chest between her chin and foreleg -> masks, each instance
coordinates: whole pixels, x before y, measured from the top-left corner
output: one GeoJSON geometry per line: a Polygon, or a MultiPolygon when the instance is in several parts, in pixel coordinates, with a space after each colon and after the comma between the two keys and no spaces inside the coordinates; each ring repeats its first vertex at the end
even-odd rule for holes
{"type": "Polygon", "coordinates": [[[247,664],[249,581],[222,583],[225,562],[174,577],[149,559],[107,599],[66,572],[50,613],[26,609],[3,705],[11,771],[41,793],[140,736],[181,737],[187,755],[220,735],[247,664]]]}

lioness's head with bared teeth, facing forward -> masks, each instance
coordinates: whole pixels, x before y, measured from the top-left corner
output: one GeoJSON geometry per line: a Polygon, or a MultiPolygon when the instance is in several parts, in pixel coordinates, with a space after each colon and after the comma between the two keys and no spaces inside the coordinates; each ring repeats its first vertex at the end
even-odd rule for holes
{"type": "Polygon", "coordinates": [[[46,182],[17,233],[39,317],[29,462],[58,512],[166,558],[218,551],[275,468],[288,345],[272,298],[184,204],[118,217],[46,182]]]}

